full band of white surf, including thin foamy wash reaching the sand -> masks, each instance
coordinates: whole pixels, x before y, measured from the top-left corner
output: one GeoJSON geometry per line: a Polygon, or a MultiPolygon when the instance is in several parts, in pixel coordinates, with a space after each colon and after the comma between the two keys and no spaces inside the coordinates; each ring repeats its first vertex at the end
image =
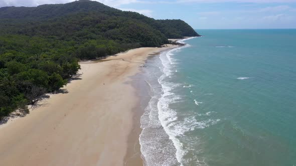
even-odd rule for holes
{"type": "MultiPolygon", "coordinates": [[[[189,45],[187,44],[184,47],[187,46],[189,45]]],[[[141,117],[141,128],[143,129],[139,138],[141,156],[144,159],[144,164],[148,166],[187,165],[188,161],[184,156],[190,149],[187,148],[188,144],[184,144],[182,138],[186,138],[185,134],[187,132],[208,127],[219,121],[219,119],[198,120],[196,118],[198,116],[197,113],[180,116],[178,114],[180,113],[179,111],[170,107],[170,104],[183,102],[185,99],[185,96],[175,92],[175,89],[182,87],[182,84],[170,81],[171,77],[178,74],[175,72],[175,64],[178,62],[173,55],[179,49],[181,48],[161,53],[158,56],[161,64],[157,65],[161,70],[160,76],[157,76],[155,73],[150,74],[152,77],[158,77],[158,83],[150,84],[153,91],[152,98],[141,117]]],[[[183,87],[192,86],[193,84],[183,84],[183,87]]],[[[199,101],[196,102],[201,103],[199,101]]],[[[202,161],[199,161],[198,157],[194,157],[194,162],[201,163],[202,161]]]]}

